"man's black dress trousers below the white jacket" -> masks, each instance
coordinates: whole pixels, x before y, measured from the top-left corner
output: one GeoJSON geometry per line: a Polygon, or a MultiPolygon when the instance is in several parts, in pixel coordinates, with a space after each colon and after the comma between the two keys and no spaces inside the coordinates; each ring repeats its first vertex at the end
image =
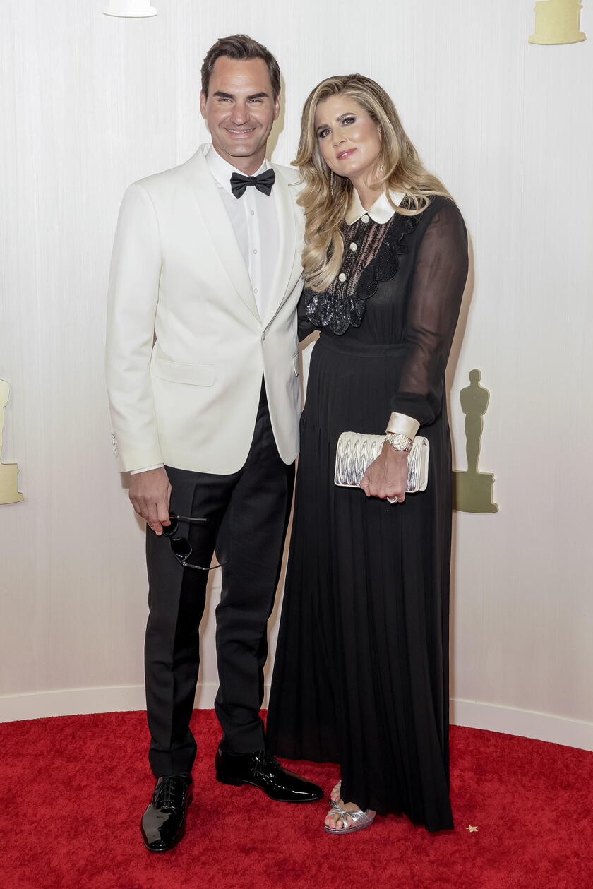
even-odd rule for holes
{"type": "MultiPolygon", "coordinates": [[[[165,467],[171,509],[205,518],[180,521],[188,562],[205,567],[216,551],[222,592],[216,609],[219,691],[215,710],[228,753],[264,749],[259,711],[268,656],[267,623],[274,605],[284,537],[292,502],[294,464],[277,452],[265,387],[251,449],[231,475],[165,467]]],[[[184,568],[166,537],[147,529],[149,616],[145,643],[148,760],[157,777],[189,772],[196,741],[189,729],[199,668],[199,624],[209,573],[184,568]]]]}

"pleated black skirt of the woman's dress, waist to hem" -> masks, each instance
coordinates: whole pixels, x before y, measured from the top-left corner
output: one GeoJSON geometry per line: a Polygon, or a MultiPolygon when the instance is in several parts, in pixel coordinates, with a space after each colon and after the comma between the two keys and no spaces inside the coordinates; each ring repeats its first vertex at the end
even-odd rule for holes
{"type": "Polygon", "coordinates": [[[429,486],[389,505],[333,483],[338,437],[381,432],[402,348],[313,350],[268,711],[279,756],[341,765],[341,797],[453,828],[448,762],[451,447],[445,397],[419,434],[429,486]]]}

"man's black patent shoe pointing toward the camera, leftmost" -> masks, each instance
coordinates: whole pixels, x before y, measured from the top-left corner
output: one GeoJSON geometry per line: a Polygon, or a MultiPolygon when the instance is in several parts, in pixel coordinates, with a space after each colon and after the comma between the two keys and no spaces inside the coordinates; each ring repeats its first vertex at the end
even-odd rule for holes
{"type": "Polygon", "coordinates": [[[150,852],[166,852],[185,834],[185,815],[191,802],[191,775],[164,775],[158,778],[155,792],[142,815],[144,845],[150,852]]]}

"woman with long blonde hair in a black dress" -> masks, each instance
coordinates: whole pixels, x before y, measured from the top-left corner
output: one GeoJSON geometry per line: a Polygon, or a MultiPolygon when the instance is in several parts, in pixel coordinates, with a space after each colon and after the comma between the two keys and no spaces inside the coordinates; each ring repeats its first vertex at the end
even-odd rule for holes
{"type": "Polygon", "coordinates": [[[268,713],[280,756],[341,764],[325,829],[405,813],[453,828],[448,763],[451,445],[445,366],[468,270],[461,213],[379,84],[330,77],[303,109],[301,333],[313,350],[268,713]],[[362,491],[341,432],[389,432],[362,491]],[[429,485],[405,496],[413,436],[429,485]]]}

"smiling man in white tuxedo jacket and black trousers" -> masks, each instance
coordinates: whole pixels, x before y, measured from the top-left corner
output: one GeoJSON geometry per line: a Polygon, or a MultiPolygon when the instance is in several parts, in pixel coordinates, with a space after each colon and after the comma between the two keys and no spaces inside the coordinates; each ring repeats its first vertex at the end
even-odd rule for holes
{"type": "Polygon", "coordinates": [[[243,35],[214,44],[200,96],[212,146],[128,188],[116,230],[107,378],[121,469],[132,473],[130,499],[148,524],[156,787],[141,829],[155,852],[183,836],[191,797],[189,719],[214,550],[217,778],[285,802],[322,796],[268,753],[259,717],[300,405],[298,177],[266,160],[279,92],[264,46],[243,35]]]}

